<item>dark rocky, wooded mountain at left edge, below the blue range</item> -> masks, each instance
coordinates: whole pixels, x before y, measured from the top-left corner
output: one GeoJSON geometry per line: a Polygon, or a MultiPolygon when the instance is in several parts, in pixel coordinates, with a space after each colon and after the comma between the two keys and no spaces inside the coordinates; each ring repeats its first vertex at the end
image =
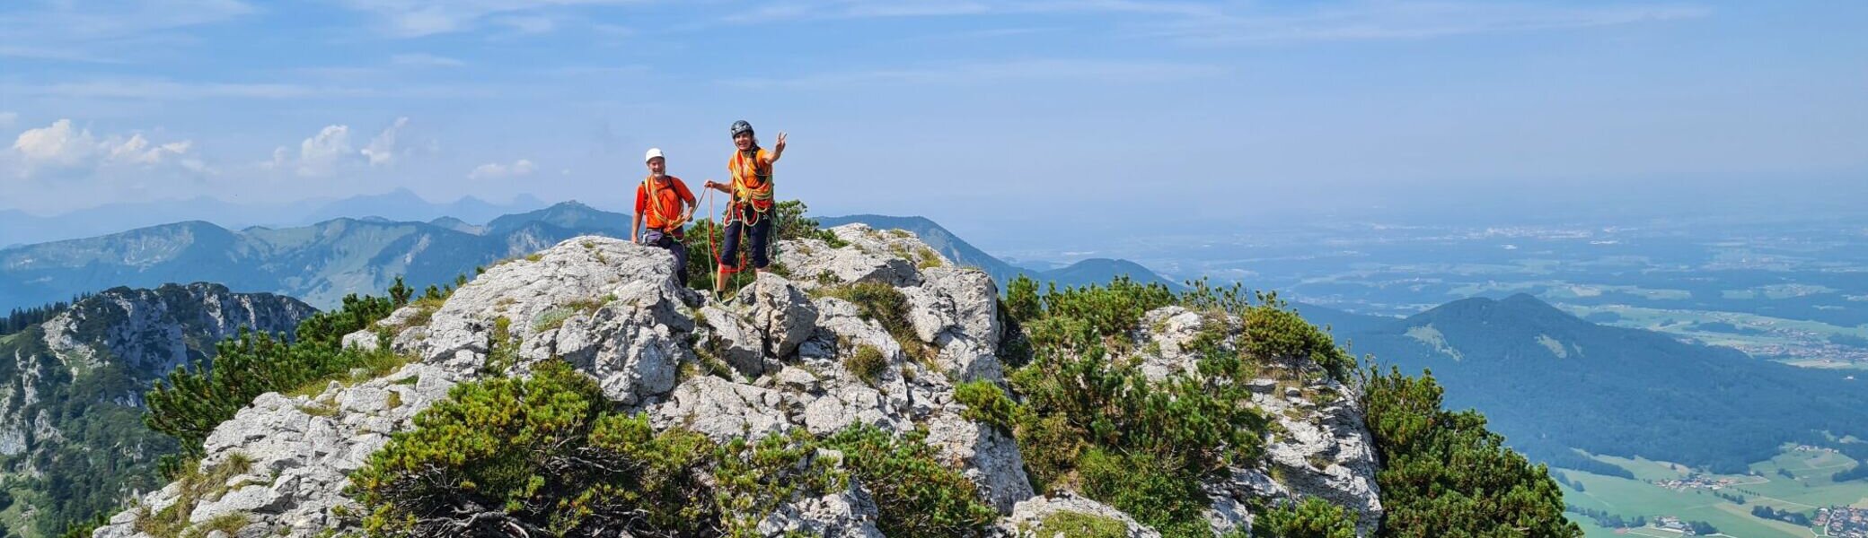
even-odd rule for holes
{"type": "Polygon", "coordinates": [[[0,527],[52,536],[125,495],[159,486],[176,450],[142,422],[149,381],[204,361],[239,329],[286,331],[316,310],[219,284],[114,288],[45,323],[0,336],[0,527]]]}

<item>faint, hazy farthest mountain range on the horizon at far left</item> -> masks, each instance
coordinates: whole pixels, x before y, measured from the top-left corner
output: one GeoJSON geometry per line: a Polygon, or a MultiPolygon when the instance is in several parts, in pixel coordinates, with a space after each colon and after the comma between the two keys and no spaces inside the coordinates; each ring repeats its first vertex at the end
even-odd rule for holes
{"type": "Polygon", "coordinates": [[[108,204],[64,215],[37,217],[17,209],[0,211],[0,245],[32,245],[95,237],[133,228],[185,220],[213,220],[230,230],[247,226],[304,226],[333,219],[381,217],[389,220],[433,220],[454,217],[486,222],[508,213],[545,207],[544,200],[519,194],[508,204],[465,196],[446,204],[422,200],[407,189],[323,202],[241,204],[198,196],[142,204],[108,204]]]}

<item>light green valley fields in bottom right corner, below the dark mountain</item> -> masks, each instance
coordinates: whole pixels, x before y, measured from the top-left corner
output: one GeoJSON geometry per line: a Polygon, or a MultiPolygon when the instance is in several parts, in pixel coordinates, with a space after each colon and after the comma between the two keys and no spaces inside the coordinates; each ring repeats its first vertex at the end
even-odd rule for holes
{"type": "MultiPolygon", "coordinates": [[[[1831,474],[1855,467],[1857,463],[1842,454],[1827,450],[1791,450],[1786,448],[1776,458],[1769,461],[1760,461],[1752,465],[1752,474],[1698,474],[1681,465],[1649,461],[1649,460],[1625,460],[1597,456],[1601,461],[1621,465],[1634,473],[1638,480],[1590,474],[1573,469],[1554,469],[1564,473],[1571,482],[1580,482],[1582,491],[1564,486],[1564,501],[1590,510],[1608,510],[1610,514],[1633,519],[1634,516],[1646,516],[1648,521],[1655,521],[1661,516],[1674,516],[1685,521],[1705,521],[1719,529],[1724,536],[1737,538],[1810,538],[1818,536],[1814,529],[1797,527],[1782,521],[1763,519],[1750,514],[1756,506],[1771,506],[1773,510],[1793,510],[1812,516],[1819,506],[1868,506],[1868,482],[1853,480],[1836,484],[1829,480],[1831,474]],[[1793,478],[1784,478],[1778,471],[1788,471],[1793,478]],[[1663,488],[1653,482],[1664,480],[1683,480],[1683,478],[1705,478],[1705,480],[1730,480],[1720,489],[1713,491],[1707,488],[1663,488]],[[1720,499],[1719,495],[1737,495],[1745,503],[1732,503],[1720,499]]],[[[1605,529],[1593,525],[1588,517],[1578,514],[1569,514],[1578,525],[1584,527],[1590,538],[1608,538],[1608,536],[1681,536],[1679,532],[1670,532],[1663,529],[1605,529]]]]}

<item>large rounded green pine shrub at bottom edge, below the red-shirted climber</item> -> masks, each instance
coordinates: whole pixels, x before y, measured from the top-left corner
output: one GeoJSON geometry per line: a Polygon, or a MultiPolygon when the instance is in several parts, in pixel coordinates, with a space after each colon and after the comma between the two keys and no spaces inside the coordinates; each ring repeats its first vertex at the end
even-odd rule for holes
{"type": "Polygon", "coordinates": [[[368,510],[364,529],[389,536],[712,529],[717,508],[687,503],[704,493],[712,443],[684,430],[654,433],[646,418],[609,407],[596,381],[560,361],[540,364],[531,379],[458,385],[351,474],[368,510]]]}

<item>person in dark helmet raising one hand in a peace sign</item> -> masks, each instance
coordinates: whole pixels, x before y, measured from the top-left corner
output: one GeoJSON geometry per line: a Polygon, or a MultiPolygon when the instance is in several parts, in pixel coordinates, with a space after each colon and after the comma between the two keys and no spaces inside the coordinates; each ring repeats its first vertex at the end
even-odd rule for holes
{"type": "Polygon", "coordinates": [[[727,275],[740,271],[740,235],[745,234],[749,241],[753,271],[764,273],[771,265],[771,254],[768,254],[768,245],[771,243],[771,163],[779,163],[779,155],[785,155],[785,133],[779,133],[779,140],[771,144],[771,151],[758,148],[758,138],[753,136],[753,123],[745,120],[732,121],[732,159],[727,161],[727,170],[732,172],[732,183],[706,181],[706,189],[732,194],[732,202],[727,204],[727,239],[725,248],[719,252],[719,271],[714,275],[714,293],[725,293],[727,275]]]}

